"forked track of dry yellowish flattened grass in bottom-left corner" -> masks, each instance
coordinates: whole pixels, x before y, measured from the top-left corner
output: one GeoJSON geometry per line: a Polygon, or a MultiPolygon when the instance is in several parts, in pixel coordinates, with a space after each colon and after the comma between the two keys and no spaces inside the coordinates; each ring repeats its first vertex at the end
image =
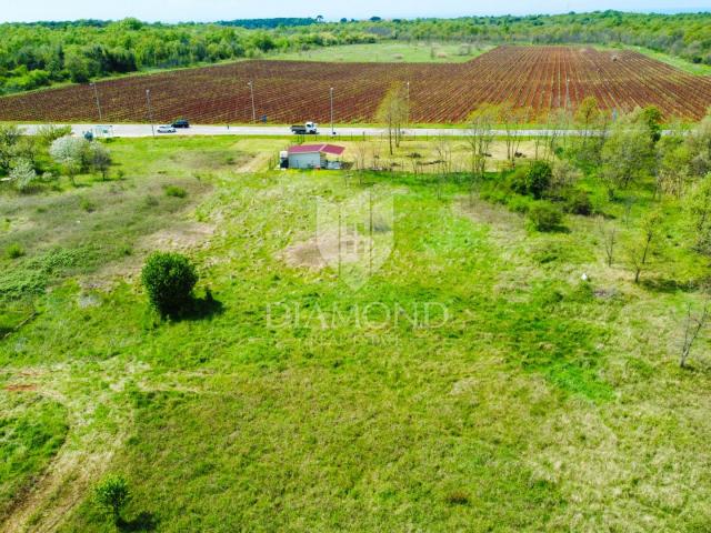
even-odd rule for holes
{"type": "Polygon", "coordinates": [[[52,365],[4,369],[10,375],[6,390],[31,390],[61,403],[68,411],[69,432],[64,444],[30,492],[0,523],[2,533],[49,533],[56,531],[111,467],[134,426],[134,412],[126,396],[131,384],[141,391],[206,391],[209,372],[167,372],[151,375],[146,364],[107,361],[97,369],[52,365]],[[98,405],[108,406],[97,420],[98,405]],[[110,414],[107,414],[110,413],[110,414]],[[110,420],[107,420],[110,416],[110,420]],[[118,428],[118,430],[111,430],[118,428]]]}

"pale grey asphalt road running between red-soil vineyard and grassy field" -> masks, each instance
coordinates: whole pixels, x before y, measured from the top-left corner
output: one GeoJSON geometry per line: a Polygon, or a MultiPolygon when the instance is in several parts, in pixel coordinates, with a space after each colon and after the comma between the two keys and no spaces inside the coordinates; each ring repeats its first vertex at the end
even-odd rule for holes
{"type": "MultiPolygon", "coordinates": [[[[21,124],[20,128],[28,133],[33,133],[40,124],[21,124]]],[[[76,134],[82,134],[86,131],[93,131],[97,124],[72,124],[72,131],[76,134]]],[[[114,124],[111,127],[113,137],[151,137],[153,130],[150,124],[114,124]]],[[[319,130],[319,140],[329,137],[330,129],[321,128],[319,130]]],[[[447,128],[405,128],[408,137],[440,137],[440,135],[467,135],[467,129],[447,129],[447,128]]],[[[518,130],[517,134],[522,137],[550,135],[552,130],[518,130]]],[[[579,130],[559,131],[558,134],[580,135],[579,130]]],[[[382,128],[354,128],[354,127],[337,127],[336,134],[339,137],[379,137],[387,134],[387,130],[382,128]]],[[[505,135],[504,130],[494,130],[497,135],[505,135]]],[[[286,125],[191,125],[189,129],[180,129],[176,133],[156,133],[157,137],[176,137],[176,135],[269,135],[284,137],[292,135],[289,127],[286,125]]]]}

